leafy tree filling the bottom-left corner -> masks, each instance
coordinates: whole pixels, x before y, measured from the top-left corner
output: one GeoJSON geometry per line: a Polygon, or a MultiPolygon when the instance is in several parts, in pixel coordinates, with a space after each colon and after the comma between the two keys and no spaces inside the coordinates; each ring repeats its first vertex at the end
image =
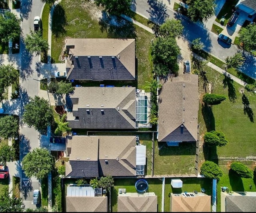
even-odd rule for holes
{"type": "Polygon", "coordinates": [[[5,186],[0,194],[0,212],[22,212],[25,205],[20,197],[10,197],[8,186],[5,186]]]}

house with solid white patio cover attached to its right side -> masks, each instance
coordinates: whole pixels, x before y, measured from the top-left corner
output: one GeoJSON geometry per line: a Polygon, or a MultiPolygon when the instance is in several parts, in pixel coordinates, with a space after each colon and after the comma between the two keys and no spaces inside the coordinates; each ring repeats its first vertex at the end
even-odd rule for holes
{"type": "Polygon", "coordinates": [[[136,136],[66,136],[66,177],[136,176],[146,146],[137,156],[136,136]]]}

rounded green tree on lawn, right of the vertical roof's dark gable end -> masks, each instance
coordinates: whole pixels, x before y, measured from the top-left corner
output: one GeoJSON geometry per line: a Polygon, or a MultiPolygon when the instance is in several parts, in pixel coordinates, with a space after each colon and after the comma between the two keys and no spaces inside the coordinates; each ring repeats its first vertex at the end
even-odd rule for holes
{"type": "Polygon", "coordinates": [[[228,143],[222,132],[214,130],[204,134],[204,142],[209,146],[225,146],[228,143]]]}

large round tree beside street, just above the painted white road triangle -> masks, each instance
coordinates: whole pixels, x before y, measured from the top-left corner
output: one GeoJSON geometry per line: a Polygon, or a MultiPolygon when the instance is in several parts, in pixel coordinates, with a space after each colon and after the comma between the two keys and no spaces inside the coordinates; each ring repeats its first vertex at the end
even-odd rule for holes
{"type": "Polygon", "coordinates": [[[53,168],[53,158],[46,148],[35,148],[22,160],[22,170],[27,177],[41,179],[46,177],[53,168]]]}

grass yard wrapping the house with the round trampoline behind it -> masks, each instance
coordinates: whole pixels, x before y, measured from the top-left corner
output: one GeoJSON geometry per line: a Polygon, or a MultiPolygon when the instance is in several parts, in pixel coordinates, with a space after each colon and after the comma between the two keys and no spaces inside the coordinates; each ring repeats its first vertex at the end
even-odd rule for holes
{"type": "MultiPolygon", "coordinates": [[[[126,188],[126,192],[136,192],[135,183],[136,178],[122,178],[114,179],[114,188],[111,189],[111,211],[117,212],[117,196],[118,188],[126,188]]],[[[161,199],[162,199],[162,180],[157,178],[148,178],[148,189],[146,192],[154,192],[157,195],[158,212],[161,211],[161,199]]]]}

